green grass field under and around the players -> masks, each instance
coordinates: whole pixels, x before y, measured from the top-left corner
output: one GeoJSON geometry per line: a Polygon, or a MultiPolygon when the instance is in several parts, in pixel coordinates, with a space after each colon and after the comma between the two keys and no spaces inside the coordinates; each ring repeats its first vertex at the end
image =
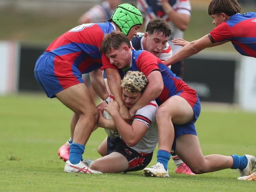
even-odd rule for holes
{"type": "MultiPolygon", "coordinates": [[[[196,176],[177,175],[169,163],[170,178],[146,178],[142,171],[127,174],[64,173],[56,155],[69,138],[71,111],[45,95],[0,97],[0,191],[255,191],[255,182],[238,181],[234,170],[196,176]]],[[[196,123],[204,155],[256,155],[256,114],[234,108],[202,105],[196,123]]],[[[106,134],[92,133],[84,158],[99,158],[97,146],[106,134]]],[[[155,164],[156,153],[151,164],[155,164]]]]}

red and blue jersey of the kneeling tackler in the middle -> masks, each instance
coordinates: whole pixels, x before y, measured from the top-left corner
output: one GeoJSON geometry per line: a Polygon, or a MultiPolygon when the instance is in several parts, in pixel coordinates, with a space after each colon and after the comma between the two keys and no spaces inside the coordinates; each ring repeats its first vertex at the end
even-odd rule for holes
{"type": "Polygon", "coordinates": [[[157,104],[160,106],[164,101],[174,95],[181,97],[183,97],[183,95],[186,95],[186,97],[190,95],[189,97],[193,97],[193,99],[187,101],[192,107],[194,106],[197,102],[196,91],[189,88],[185,82],[172,73],[159,58],[145,50],[131,50],[131,52],[132,60],[130,67],[125,71],[119,70],[121,78],[123,78],[127,71],[141,71],[146,76],[152,71],[160,71],[163,78],[164,89],[159,97],[155,99],[157,104]]]}

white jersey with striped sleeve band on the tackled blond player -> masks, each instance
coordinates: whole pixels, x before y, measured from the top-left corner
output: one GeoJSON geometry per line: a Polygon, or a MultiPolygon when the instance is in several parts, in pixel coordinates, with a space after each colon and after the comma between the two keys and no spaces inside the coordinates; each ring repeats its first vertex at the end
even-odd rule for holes
{"type": "MultiPolygon", "coordinates": [[[[110,95],[114,99],[113,95],[110,95]]],[[[106,99],[107,102],[110,101],[110,97],[106,99]]],[[[158,142],[158,130],[157,123],[155,121],[155,114],[157,112],[158,105],[154,101],[151,101],[146,106],[137,110],[134,118],[130,121],[130,125],[133,121],[141,121],[145,123],[148,127],[147,132],[144,134],[142,139],[137,145],[130,147],[137,151],[138,153],[151,153],[154,151],[158,142]]],[[[122,138],[120,136],[120,138],[122,138]]]]}

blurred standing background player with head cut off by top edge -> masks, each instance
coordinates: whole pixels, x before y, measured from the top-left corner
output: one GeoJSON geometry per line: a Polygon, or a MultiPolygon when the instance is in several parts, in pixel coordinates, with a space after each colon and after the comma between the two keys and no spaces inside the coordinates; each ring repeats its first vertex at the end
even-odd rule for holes
{"type": "MultiPolygon", "coordinates": [[[[172,35],[168,39],[175,54],[182,47],[173,45],[172,39],[183,38],[183,31],[187,29],[191,16],[191,5],[189,0],[137,0],[137,7],[144,17],[144,26],[150,19],[161,17],[168,21],[172,35]]],[[[172,65],[172,72],[178,77],[183,76],[184,63],[178,61],[172,65]]]]}

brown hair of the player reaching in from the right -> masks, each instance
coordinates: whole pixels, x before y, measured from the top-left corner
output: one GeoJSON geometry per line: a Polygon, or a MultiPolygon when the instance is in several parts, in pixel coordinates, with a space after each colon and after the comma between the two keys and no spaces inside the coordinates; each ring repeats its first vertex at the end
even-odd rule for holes
{"type": "Polygon", "coordinates": [[[215,15],[225,13],[228,16],[241,12],[237,0],[212,0],[208,6],[208,14],[215,15]]]}

